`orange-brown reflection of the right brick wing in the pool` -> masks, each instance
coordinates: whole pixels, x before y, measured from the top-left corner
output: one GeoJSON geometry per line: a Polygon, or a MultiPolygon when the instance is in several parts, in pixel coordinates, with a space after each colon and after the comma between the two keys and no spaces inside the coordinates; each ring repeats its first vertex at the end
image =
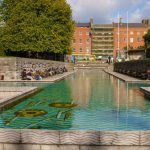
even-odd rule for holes
{"type": "Polygon", "coordinates": [[[145,98],[138,87],[113,78],[114,85],[114,106],[128,108],[145,108],[145,98]],[[119,105],[119,106],[118,106],[119,105]]]}

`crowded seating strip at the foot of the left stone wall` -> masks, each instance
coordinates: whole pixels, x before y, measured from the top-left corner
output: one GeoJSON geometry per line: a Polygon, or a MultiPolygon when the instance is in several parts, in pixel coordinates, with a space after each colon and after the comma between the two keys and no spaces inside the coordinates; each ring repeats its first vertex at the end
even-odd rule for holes
{"type": "Polygon", "coordinates": [[[46,69],[23,69],[21,71],[21,79],[22,80],[42,80],[43,78],[47,78],[50,76],[54,76],[57,74],[63,74],[67,72],[67,68],[65,66],[52,66],[46,69]]]}

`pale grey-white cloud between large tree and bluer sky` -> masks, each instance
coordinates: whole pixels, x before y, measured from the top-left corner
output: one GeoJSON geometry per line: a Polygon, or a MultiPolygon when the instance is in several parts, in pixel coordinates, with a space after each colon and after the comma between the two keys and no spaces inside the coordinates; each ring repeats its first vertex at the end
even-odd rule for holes
{"type": "Polygon", "coordinates": [[[76,21],[89,21],[90,17],[104,22],[110,18],[111,9],[115,3],[112,0],[68,0],[73,9],[73,16],[76,21]],[[105,13],[107,11],[107,13],[105,13]]]}

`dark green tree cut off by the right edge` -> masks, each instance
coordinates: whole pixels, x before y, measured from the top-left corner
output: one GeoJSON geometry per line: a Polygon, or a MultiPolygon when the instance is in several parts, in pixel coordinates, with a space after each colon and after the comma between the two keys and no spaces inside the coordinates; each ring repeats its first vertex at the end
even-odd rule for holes
{"type": "Polygon", "coordinates": [[[146,47],[146,57],[150,58],[150,29],[147,34],[144,35],[144,42],[146,47]]]}

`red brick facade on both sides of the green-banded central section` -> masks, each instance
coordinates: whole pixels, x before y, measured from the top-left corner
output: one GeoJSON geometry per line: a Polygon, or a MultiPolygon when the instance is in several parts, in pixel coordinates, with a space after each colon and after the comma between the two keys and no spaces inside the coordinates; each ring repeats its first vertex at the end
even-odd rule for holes
{"type": "MultiPolygon", "coordinates": [[[[81,57],[84,57],[86,55],[95,54],[94,48],[92,49],[93,45],[92,45],[91,30],[92,30],[91,23],[76,24],[75,32],[72,40],[72,55],[75,56],[80,55],[81,57]]],[[[114,58],[117,58],[117,56],[125,57],[127,52],[127,47],[129,50],[131,49],[131,47],[133,49],[137,49],[140,46],[144,46],[143,36],[144,34],[147,33],[147,31],[148,31],[148,25],[144,23],[129,23],[128,35],[127,35],[127,23],[121,23],[119,25],[119,42],[118,42],[118,23],[113,23],[112,24],[113,57],[114,58]]],[[[100,42],[101,41],[99,41],[99,43],[97,44],[101,44],[100,42]]],[[[104,44],[102,43],[102,45],[104,44]]]]}

